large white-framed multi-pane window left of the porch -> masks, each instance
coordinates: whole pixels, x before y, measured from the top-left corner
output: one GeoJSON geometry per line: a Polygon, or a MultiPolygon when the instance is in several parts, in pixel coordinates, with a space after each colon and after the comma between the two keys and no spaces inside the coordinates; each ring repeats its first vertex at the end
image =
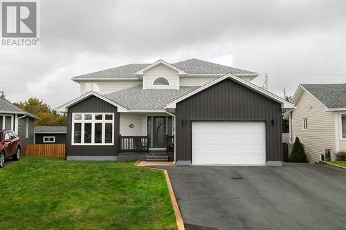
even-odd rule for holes
{"type": "Polygon", "coordinates": [[[113,145],[113,113],[72,113],[72,144],[113,145]]]}

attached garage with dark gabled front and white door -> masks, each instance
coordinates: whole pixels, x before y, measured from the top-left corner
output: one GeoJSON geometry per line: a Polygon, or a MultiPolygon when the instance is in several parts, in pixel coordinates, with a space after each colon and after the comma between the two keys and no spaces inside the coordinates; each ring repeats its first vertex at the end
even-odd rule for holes
{"type": "Polygon", "coordinates": [[[282,111],[293,104],[225,75],[167,104],[177,165],[282,165],[282,111]]]}

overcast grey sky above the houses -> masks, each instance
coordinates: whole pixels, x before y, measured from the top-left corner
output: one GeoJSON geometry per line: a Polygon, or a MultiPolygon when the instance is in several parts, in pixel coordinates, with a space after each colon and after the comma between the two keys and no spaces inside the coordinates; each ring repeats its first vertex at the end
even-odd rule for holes
{"type": "Polygon", "coordinates": [[[0,90],[53,108],[79,95],[71,77],[192,57],[268,73],[269,90],[346,83],[346,0],[40,3],[41,46],[0,50],[0,90]]]}

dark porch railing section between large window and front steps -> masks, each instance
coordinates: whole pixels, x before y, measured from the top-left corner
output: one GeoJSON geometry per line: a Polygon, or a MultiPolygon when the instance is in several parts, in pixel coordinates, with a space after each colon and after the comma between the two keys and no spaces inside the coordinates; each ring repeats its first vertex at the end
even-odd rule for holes
{"type": "Polygon", "coordinates": [[[149,136],[122,136],[119,135],[119,152],[146,152],[149,153],[149,136]]]}

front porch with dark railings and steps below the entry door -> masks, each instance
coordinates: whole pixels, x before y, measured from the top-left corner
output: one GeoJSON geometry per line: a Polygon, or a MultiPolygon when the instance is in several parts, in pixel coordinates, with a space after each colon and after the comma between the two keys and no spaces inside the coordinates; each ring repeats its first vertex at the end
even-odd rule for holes
{"type": "Polygon", "coordinates": [[[118,138],[118,160],[146,160],[167,162],[174,160],[174,135],[165,135],[165,148],[151,148],[152,139],[147,136],[123,136],[118,138]]]}

